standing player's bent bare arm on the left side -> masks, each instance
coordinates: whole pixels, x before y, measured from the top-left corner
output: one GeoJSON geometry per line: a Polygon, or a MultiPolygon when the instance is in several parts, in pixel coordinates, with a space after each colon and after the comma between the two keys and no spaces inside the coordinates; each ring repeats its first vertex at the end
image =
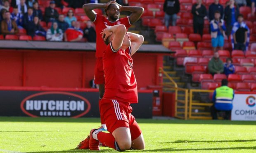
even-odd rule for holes
{"type": "Polygon", "coordinates": [[[89,17],[91,21],[95,20],[96,13],[93,11],[93,9],[105,9],[107,8],[112,2],[108,2],[106,4],[95,4],[95,3],[89,3],[83,5],[83,9],[85,10],[85,14],[89,17]]]}

